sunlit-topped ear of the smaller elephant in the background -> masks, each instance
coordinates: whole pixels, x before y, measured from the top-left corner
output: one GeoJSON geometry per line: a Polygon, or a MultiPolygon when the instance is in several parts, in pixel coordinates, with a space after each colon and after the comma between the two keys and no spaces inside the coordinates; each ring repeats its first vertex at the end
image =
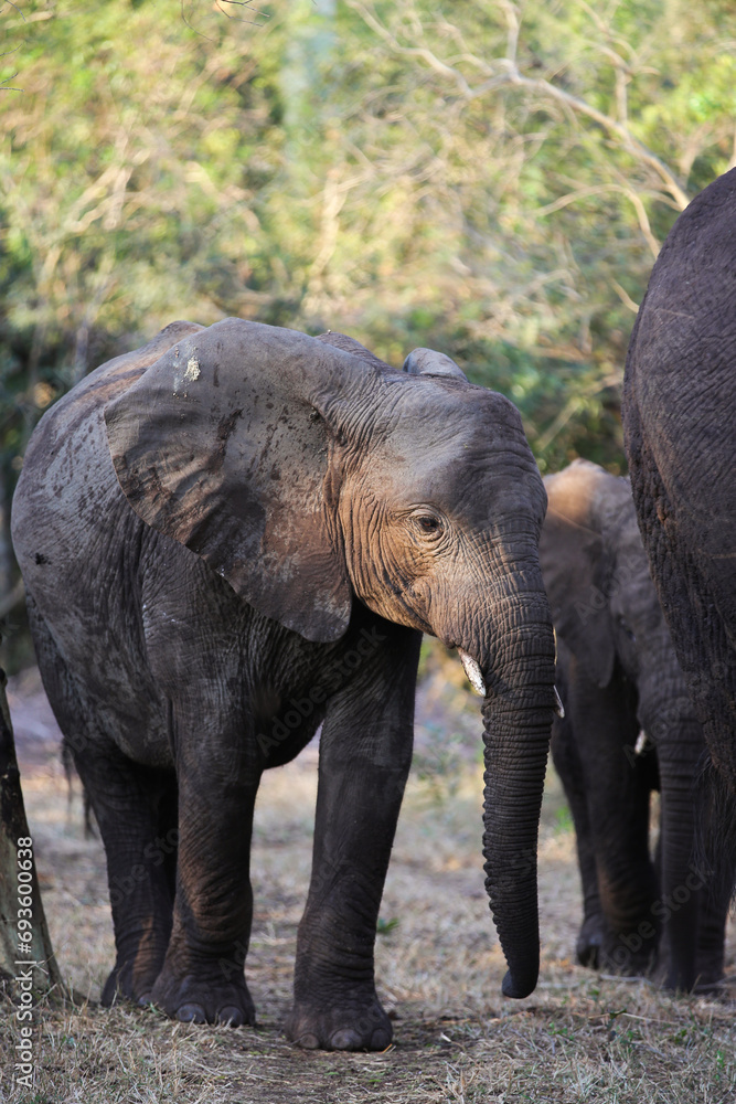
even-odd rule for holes
{"type": "Polygon", "coordinates": [[[588,460],[546,476],[548,505],[540,538],[555,631],[599,687],[610,682],[616,657],[608,601],[611,560],[600,518],[601,496],[612,478],[588,460]]]}

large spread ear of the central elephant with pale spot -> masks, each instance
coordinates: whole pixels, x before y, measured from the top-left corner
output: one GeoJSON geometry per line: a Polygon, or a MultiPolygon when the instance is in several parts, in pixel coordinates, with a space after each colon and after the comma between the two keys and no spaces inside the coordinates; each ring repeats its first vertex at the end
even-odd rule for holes
{"type": "MultiPolygon", "coordinates": [[[[388,370],[390,371],[390,370],[388,370]]],[[[371,369],[294,330],[231,318],[185,337],[105,410],[134,510],[260,613],[338,639],[352,591],[333,424],[371,369]]]]}

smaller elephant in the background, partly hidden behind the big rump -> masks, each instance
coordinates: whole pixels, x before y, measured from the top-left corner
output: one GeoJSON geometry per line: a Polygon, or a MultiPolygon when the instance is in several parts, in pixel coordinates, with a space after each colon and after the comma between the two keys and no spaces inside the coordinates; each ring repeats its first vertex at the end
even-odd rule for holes
{"type": "Polygon", "coordinates": [[[723,974],[727,898],[713,899],[696,859],[705,742],[629,481],[576,460],[544,482],[540,561],[565,705],[552,753],[577,834],[578,960],[639,974],[654,966],[661,937],[669,988],[712,985],[723,974]],[[661,790],[658,870],[649,853],[652,789],[661,790]]]}

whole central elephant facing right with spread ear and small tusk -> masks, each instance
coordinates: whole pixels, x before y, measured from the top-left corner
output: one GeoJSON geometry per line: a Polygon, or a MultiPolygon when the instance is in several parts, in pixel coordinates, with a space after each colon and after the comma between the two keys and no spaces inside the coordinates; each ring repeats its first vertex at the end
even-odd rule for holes
{"type": "Polygon", "coordinates": [[[504,992],[534,988],[554,708],[545,495],[518,412],[446,361],[415,374],[433,365],[419,350],[402,373],[341,335],[177,322],[35,431],[13,535],[107,852],[105,1004],[254,1021],[256,790],[323,722],[287,1033],[387,1045],[373,944],[422,631],[467,651],[488,688],[487,885],[504,992]]]}

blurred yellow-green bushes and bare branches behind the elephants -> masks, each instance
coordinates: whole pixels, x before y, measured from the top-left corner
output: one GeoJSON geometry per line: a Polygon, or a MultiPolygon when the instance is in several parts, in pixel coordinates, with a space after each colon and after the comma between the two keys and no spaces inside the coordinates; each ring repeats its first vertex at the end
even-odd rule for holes
{"type": "Polygon", "coordinates": [[[10,666],[29,435],[174,318],[441,349],[516,403],[543,470],[623,470],[652,262],[736,162],[733,0],[17,0],[0,50],[10,666]]]}

